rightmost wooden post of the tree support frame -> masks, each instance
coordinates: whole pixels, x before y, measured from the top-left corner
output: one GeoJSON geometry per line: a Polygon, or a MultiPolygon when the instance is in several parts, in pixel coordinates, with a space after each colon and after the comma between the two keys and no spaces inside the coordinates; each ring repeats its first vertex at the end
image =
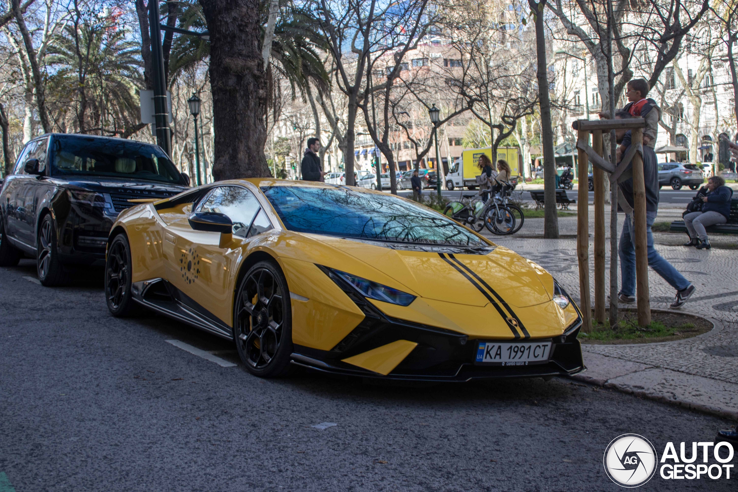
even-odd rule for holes
{"type": "MultiPolygon", "coordinates": [[[[643,143],[643,128],[631,130],[631,144],[643,143]]],[[[638,325],[651,324],[651,304],[648,289],[648,237],[646,235],[646,181],[641,154],[633,156],[633,235],[635,243],[635,285],[638,302],[638,325]]]]}

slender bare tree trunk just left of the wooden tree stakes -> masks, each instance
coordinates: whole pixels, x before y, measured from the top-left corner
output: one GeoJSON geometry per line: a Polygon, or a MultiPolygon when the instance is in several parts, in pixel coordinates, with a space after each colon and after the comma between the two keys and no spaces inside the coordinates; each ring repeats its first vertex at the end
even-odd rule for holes
{"type": "MultiPolygon", "coordinates": [[[[543,5],[528,0],[536,15],[536,55],[538,59],[538,93],[541,106],[541,136],[543,150],[543,198],[544,218],[543,237],[559,238],[559,216],[556,213],[556,162],[554,161],[554,130],[551,128],[551,98],[548,95],[548,64],[546,63],[545,26],[543,24],[543,5]],[[539,7],[540,6],[540,7],[539,7]]],[[[587,204],[584,204],[586,207],[587,204]]],[[[579,205],[582,207],[582,204],[579,205]]]]}

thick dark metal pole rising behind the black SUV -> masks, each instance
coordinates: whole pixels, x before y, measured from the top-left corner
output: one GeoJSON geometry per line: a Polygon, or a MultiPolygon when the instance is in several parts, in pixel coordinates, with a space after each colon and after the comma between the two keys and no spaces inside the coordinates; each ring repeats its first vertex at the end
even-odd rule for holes
{"type": "Polygon", "coordinates": [[[172,139],[169,128],[169,108],[167,104],[167,82],[164,73],[164,53],[162,52],[162,28],[159,24],[159,2],[148,2],[148,23],[151,30],[151,69],[154,77],[154,128],[156,143],[171,157],[172,139]]]}

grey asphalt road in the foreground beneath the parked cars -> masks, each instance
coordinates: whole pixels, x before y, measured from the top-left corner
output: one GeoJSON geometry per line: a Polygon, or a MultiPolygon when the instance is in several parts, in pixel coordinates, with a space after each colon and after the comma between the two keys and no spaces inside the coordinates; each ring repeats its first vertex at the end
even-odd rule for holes
{"type": "MultiPolygon", "coordinates": [[[[112,318],[98,278],[44,288],[24,277],[35,277],[30,260],[0,268],[0,482],[17,492],[619,491],[602,467],[619,434],[661,454],[727,426],[558,378],[261,380],[229,342],[161,316],[112,318]],[[337,425],[312,427],[325,422],[337,425]]],[[[730,483],[656,476],[643,490],[730,483]]]]}

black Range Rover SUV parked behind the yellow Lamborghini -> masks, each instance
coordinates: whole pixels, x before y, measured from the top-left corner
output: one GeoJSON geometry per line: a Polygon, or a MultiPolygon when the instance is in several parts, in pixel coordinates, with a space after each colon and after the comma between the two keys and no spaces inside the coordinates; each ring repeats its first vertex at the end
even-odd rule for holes
{"type": "Polygon", "coordinates": [[[104,266],[118,214],[146,198],[187,190],[156,145],[107,136],[32,139],[0,190],[0,266],[35,257],[38,280],[62,285],[72,265],[104,266]],[[131,201],[134,200],[134,201],[131,201]]]}

